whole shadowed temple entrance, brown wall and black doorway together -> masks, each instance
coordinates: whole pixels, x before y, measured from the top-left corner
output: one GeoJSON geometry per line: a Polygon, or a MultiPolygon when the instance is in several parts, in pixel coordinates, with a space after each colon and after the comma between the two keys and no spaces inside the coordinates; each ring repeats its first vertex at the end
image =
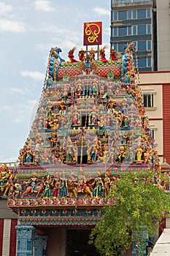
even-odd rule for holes
{"type": "Polygon", "coordinates": [[[93,244],[88,244],[90,228],[37,227],[39,236],[47,236],[47,256],[100,256],[93,244]]]}

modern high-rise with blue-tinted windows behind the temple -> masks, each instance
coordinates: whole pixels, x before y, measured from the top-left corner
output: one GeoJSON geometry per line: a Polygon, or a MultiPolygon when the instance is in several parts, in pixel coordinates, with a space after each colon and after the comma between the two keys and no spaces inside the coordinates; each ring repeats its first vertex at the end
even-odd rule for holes
{"type": "Polygon", "coordinates": [[[111,0],[111,47],[132,41],[139,71],[170,69],[169,0],[111,0]]]}

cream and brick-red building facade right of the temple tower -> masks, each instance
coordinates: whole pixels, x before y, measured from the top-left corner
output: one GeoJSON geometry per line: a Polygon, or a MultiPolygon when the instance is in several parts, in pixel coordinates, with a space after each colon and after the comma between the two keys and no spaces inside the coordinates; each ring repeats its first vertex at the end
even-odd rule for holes
{"type": "Polygon", "coordinates": [[[170,72],[140,72],[139,83],[146,115],[150,119],[152,138],[158,157],[170,163],[169,113],[170,72]]]}

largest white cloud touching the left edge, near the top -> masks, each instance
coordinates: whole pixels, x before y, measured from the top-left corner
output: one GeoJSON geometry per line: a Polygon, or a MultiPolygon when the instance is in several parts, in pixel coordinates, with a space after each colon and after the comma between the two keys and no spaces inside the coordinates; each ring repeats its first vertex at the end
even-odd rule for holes
{"type": "Polygon", "coordinates": [[[24,23],[17,20],[8,20],[7,18],[0,19],[0,31],[10,32],[25,32],[26,27],[24,23]]]}

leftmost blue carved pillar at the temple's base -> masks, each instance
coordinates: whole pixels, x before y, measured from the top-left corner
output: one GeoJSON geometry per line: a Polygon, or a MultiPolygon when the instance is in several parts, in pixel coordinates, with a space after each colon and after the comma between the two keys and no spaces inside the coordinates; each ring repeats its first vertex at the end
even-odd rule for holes
{"type": "Polygon", "coordinates": [[[17,256],[32,256],[34,227],[28,225],[18,225],[17,230],[17,256]]]}

